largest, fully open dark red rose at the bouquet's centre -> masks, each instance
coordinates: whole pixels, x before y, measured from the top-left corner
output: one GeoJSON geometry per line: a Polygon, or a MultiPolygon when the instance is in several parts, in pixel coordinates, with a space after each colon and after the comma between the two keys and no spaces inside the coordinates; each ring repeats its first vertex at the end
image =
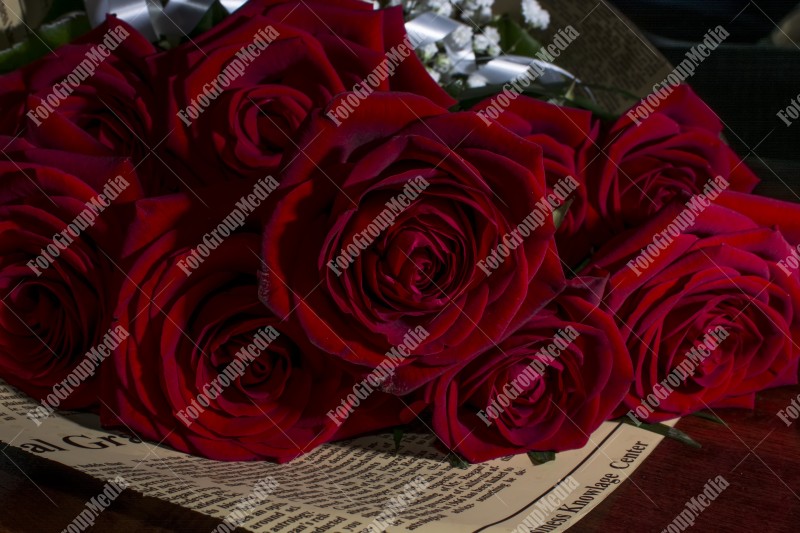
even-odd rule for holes
{"type": "Polygon", "coordinates": [[[353,364],[402,352],[384,387],[402,394],[498,342],[563,286],[552,218],[537,205],[541,149],[418,96],[376,93],[337,127],[338,105],[309,122],[283,174],[263,299],[281,316],[296,309],[311,342],[353,364]]]}

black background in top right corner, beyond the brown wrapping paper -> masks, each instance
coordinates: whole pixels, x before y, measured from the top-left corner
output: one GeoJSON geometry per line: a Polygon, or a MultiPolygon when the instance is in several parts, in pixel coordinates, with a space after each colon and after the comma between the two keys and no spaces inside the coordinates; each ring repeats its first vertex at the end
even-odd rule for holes
{"type": "Polygon", "coordinates": [[[787,47],[778,48],[769,39],[781,20],[799,6],[797,1],[612,3],[673,64],[679,63],[709,28],[721,24],[728,30],[730,37],[687,81],[726,123],[728,142],[762,179],[767,180],[774,171],[792,188],[800,187],[800,124],[786,126],[776,115],[800,95],[800,31],[789,32],[797,44],[788,43],[787,47]],[[763,162],[751,153],[754,149],[763,162]]]}

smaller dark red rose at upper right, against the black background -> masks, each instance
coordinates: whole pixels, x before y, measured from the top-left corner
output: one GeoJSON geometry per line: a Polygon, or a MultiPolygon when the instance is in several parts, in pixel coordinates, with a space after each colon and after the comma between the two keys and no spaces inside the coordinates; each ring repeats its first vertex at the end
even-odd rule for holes
{"type": "Polygon", "coordinates": [[[721,138],[722,123],[681,85],[647,118],[623,115],[600,141],[589,172],[589,198],[605,236],[637,227],[673,200],[701,192],[718,176],[750,192],[758,178],[721,138]]]}

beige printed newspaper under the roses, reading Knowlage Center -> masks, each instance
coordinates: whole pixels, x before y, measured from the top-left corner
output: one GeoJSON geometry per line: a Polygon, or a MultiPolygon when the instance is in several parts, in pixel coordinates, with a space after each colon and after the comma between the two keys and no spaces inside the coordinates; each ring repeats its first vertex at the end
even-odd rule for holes
{"type": "Polygon", "coordinates": [[[585,448],[539,466],[523,454],[459,468],[435,436],[421,433],[406,435],[397,452],[384,434],[327,444],[283,465],[221,462],[105,431],[93,414],[59,412],[36,426],[25,416],[36,405],[0,382],[0,448],[121,478],[128,490],[250,531],[563,531],[662,439],[606,422],[585,448]]]}

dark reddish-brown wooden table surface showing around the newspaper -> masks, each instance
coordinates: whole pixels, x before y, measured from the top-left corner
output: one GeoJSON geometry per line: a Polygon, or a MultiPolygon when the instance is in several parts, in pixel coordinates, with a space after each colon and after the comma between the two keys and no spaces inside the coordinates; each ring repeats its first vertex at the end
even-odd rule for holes
{"type": "MultiPolygon", "coordinates": [[[[664,440],[570,531],[659,532],[720,474],[730,486],[697,517],[692,531],[800,531],[800,420],[787,427],[776,414],[798,395],[800,386],[783,387],[760,394],[753,411],[717,411],[727,426],[682,419],[678,427],[702,449],[664,440]]],[[[13,447],[5,453],[0,454],[2,531],[61,531],[101,490],[101,481],[70,468],[13,447]]],[[[93,530],[211,531],[218,523],[125,491],[99,515],[93,530]]]]}

